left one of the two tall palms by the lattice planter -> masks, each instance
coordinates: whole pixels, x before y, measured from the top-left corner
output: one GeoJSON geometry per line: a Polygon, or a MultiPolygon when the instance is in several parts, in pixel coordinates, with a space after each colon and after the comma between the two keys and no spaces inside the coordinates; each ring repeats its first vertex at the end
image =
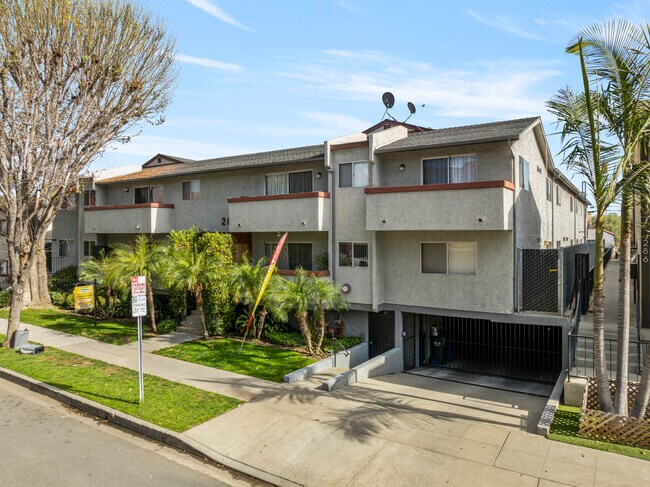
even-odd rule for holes
{"type": "Polygon", "coordinates": [[[605,211],[619,194],[618,180],[624,166],[616,147],[601,140],[600,118],[594,106],[594,98],[598,100],[601,95],[591,91],[591,79],[585,65],[581,41],[577,43],[577,49],[580,56],[583,91],[575,92],[568,87],[564,88],[547,102],[547,107],[562,126],[564,163],[585,177],[595,199],[594,369],[600,407],[603,411],[611,413],[614,408],[609,392],[609,373],[605,357],[603,230],[605,211]]]}

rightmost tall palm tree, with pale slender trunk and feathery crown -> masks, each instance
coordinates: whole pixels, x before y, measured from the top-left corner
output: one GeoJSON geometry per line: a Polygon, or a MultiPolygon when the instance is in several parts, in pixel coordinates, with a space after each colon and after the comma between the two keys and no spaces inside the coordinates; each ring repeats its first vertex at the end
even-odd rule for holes
{"type": "MultiPolygon", "coordinates": [[[[626,177],[641,164],[638,145],[648,131],[650,116],[650,63],[643,49],[644,32],[625,20],[595,24],[578,34],[587,72],[597,76],[605,96],[598,98],[596,109],[605,122],[609,136],[615,137],[622,150],[621,164],[626,177]]],[[[567,49],[578,53],[578,43],[567,49]]],[[[627,416],[628,356],[630,339],[630,257],[633,194],[625,187],[621,196],[621,236],[618,296],[618,347],[616,413],[627,416]]]]}

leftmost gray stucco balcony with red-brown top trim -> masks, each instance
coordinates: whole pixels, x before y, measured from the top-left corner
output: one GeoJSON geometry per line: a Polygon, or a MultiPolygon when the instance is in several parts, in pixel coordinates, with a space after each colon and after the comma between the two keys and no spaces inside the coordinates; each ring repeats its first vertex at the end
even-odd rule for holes
{"type": "Polygon", "coordinates": [[[88,206],[84,208],[86,233],[169,233],[174,228],[174,205],[88,206]]]}

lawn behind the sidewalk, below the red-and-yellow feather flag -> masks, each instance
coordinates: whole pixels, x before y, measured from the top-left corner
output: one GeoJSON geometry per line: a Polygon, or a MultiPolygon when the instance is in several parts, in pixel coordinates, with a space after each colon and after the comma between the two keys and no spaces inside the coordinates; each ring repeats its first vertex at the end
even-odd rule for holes
{"type": "Polygon", "coordinates": [[[314,362],[293,350],[250,342],[238,354],[240,346],[241,340],[217,338],[181,343],[154,353],[274,382],[282,382],[285,374],[314,362]]]}

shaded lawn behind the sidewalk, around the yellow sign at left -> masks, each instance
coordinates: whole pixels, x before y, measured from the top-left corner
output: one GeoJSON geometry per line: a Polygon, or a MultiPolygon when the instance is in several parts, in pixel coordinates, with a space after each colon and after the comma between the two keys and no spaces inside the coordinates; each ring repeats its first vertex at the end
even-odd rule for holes
{"type": "MultiPolygon", "coordinates": [[[[8,318],[9,310],[0,309],[0,318],[8,318]]],[[[93,340],[124,345],[138,339],[138,328],[132,321],[97,321],[97,327],[92,317],[74,315],[55,308],[27,308],[22,310],[20,321],[30,325],[42,326],[52,330],[63,331],[73,335],[81,335],[93,340]]],[[[146,336],[153,336],[145,332],[146,336]]]]}

